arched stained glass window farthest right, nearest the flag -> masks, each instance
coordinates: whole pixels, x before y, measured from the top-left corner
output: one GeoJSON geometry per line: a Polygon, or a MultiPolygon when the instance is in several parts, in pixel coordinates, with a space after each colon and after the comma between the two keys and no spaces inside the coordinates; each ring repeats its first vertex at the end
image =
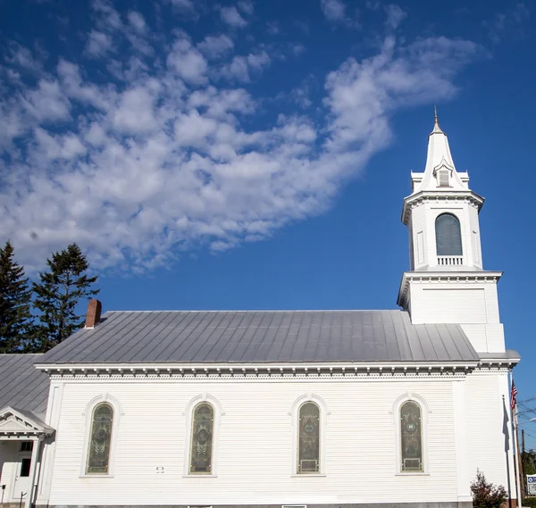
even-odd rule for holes
{"type": "Polygon", "coordinates": [[[421,406],[407,401],[400,407],[401,471],[423,471],[421,406]]]}

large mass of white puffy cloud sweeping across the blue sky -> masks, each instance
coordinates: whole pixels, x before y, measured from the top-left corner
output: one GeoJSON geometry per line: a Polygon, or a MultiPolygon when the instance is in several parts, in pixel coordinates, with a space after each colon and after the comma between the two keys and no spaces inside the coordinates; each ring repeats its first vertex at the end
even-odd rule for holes
{"type": "MultiPolygon", "coordinates": [[[[97,15],[109,9],[96,4],[97,15]]],[[[112,45],[142,30],[153,40],[147,23],[127,19],[113,16],[121,28],[103,32],[112,45]]],[[[390,115],[456,94],[456,73],[480,51],[446,37],[405,46],[389,37],[377,54],[329,73],[323,108],[309,109],[310,87],[324,81],[316,76],[283,106],[269,103],[266,119],[255,116],[265,97],[236,82],[259,79],[269,49],[228,55],[226,36],[198,46],[175,37],[156,63],[129,46],[121,61],[60,58],[35,84],[7,87],[0,72],[9,90],[0,96],[0,235],[12,238],[29,271],[72,241],[98,268],[150,270],[320,213],[389,143],[390,115]],[[209,64],[205,55],[222,60],[209,64]],[[292,101],[311,115],[297,114],[292,101]]]]}

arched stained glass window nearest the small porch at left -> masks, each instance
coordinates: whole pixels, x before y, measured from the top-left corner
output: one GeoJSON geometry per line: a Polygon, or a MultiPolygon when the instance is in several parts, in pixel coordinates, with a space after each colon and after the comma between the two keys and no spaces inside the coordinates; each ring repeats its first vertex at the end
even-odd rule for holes
{"type": "Polygon", "coordinates": [[[87,474],[107,474],[112,442],[113,407],[98,404],[93,410],[91,434],[89,435],[87,474]]]}

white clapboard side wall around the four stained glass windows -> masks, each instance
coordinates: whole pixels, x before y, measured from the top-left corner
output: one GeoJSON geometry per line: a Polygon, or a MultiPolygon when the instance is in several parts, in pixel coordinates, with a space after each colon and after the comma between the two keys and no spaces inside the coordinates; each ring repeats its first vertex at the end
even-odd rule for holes
{"type": "MultiPolygon", "coordinates": [[[[65,381],[50,504],[297,504],[456,501],[449,379],[65,381]],[[430,407],[429,474],[395,475],[393,403],[407,392],[430,407]],[[293,477],[292,404],[322,397],[323,477],[293,477]],[[123,411],[113,478],[80,478],[87,404],[117,399],[123,411]],[[188,402],[222,404],[217,478],[184,478],[188,402]],[[157,474],[156,468],[164,473],[157,474]]],[[[188,454],[188,449],[186,450],[188,454]]]]}

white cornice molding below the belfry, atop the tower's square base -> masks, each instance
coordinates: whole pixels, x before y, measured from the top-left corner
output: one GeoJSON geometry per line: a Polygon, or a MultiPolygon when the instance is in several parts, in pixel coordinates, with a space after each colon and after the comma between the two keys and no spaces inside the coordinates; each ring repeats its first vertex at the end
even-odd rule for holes
{"type": "Polygon", "coordinates": [[[398,289],[397,304],[406,309],[411,283],[485,283],[497,284],[502,271],[405,271],[398,289]]]}

